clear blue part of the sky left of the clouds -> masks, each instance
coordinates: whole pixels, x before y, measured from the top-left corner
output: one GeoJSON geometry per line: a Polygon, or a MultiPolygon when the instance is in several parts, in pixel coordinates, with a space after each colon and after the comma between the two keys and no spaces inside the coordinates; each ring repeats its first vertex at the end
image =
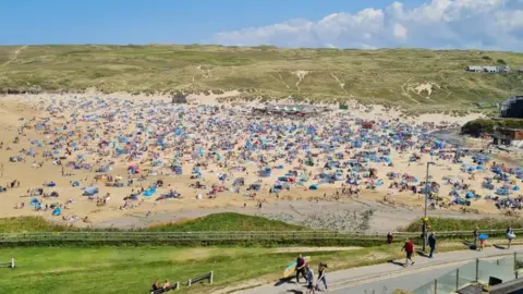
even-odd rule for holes
{"type": "MultiPolygon", "coordinates": [[[[0,1],[0,42],[196,44],[215,34],[289,19],[319,20],[392,1],[374,0],[16,0],[0,1]]],[[[414,0],[416,2],[416,0],[414,0]]]]}

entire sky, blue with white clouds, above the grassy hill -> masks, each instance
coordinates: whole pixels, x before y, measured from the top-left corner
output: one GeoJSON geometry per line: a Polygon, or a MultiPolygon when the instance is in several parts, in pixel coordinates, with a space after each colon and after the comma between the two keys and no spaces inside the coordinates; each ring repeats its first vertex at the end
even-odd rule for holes
{"type": "Polygon", "coordinates": [[[523,0],[4,0],[0,11],[0,45],[523,51],[523,0]]]}

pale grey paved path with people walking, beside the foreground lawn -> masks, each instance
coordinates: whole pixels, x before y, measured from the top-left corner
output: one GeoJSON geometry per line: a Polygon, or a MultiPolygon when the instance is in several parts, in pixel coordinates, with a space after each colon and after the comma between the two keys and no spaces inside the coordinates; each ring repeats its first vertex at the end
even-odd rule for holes
{"type": "MultiPolygon", "coordinates": [[[[397,260],[389,264],[352,268],[336,272],[328,272],[329,293],[384,293],[384,286],[392,293],[396,289],[414,290],[429,281],[446,274],[475,258],[495,258],[512,255],[514,252],[523,252],[523,246],[513,246],[510,250],[488,247],[483,252],[461,250],[435,255],[434,259],[417,256],[414,266],[404,268],[404,260],[397,260]]],[[[522,253],[523,257],[523,253],[522,253]]],[[[316,270],[316,269],[315,269],[316,270]]],[[[315,272],[316,274],[316,272],[315,272]]],[[[296,285],[293,282],[282,284],[263,285],[251,290],[239,292],[242,294],[288,294],[305,293],[304,284],[296,285]]]]}

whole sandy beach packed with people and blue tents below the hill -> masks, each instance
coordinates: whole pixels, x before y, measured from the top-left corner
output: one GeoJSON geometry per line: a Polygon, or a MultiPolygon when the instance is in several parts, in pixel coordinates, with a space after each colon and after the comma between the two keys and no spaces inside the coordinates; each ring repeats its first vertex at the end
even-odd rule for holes
{"type": "Polygon", "coordinates": [[[422,216],[429,161],[431,216],[520,206],[518,167],[430,139],[478,114],[404,120],[354,102],[309,118],[253,117],[255,103],[218,102],[228,95],[192,95],[190,105],[125,93],[0,97],[0,215],[129,229],[236,211],[381,232],[422,216]],[[499,188],[515,200],[504,206],[499,188]]]}

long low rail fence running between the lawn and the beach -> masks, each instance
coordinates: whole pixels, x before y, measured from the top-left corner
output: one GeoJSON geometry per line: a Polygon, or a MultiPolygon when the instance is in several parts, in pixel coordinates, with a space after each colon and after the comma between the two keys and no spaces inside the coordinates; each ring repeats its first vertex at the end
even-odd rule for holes
{"type": "MultiPolygon", "coordinates": [[[[482,233],[504,236],[504,230],[482,233]]],[[[514,230],[523,233],[523,229],[514,230]]],[[[396,232],[396,241],[421,238],[421,233],[396,232]]],[[[471,231],[437,232],[438,238],[470,238],[471,231]]],[[[0,234],[0,244],[38,242],[256,242],[256,241],[385,241],[384,234],[348,234],[332,231],[212,231],[212,232],[139,232],[139,231],[64,231],[0,234]]]]}

